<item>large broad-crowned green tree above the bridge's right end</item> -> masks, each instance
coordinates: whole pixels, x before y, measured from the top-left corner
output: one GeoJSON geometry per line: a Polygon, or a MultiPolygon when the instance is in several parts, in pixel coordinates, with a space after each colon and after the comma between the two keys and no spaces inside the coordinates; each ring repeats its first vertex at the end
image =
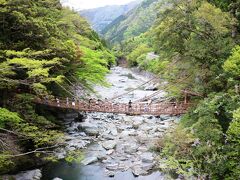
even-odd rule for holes
{"type": "Polygon", "coordinates": [[[234,45],[230,14],[199,0],[171,0],[162,6],[153,31],[160,59],[175,64],[169,80],[191,75],[186,81],[188,88],[203,93],[222,90],[224,77],[220,81],[219,74],[234,45]]]}

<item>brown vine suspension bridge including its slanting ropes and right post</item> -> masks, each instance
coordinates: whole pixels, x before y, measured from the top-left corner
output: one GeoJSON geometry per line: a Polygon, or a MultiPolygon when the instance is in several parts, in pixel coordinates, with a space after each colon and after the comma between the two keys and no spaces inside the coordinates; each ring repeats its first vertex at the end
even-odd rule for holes
{"type": "MultiPolygon", "coordinates": [[[[155,78],[153,78],[155,79],[155,78]]],[[[150,81],[152,81],[151,79],[150,81]]],[[[148,81],[148,82],[150,82],[148,81]]],[[[144,84],[147,84],[145,82],[144,84]]],[[[141,85],[140,85],[141,86],[141,85]]],[[[139,86],[139,87],[140,87],[139,86]]],[[[139,88],[137,87],[137,88],[139,88]]],[[[123,95],[132,92],[132,89],[123,94],[117,95],[109,100],[95,100],[95,99],[78,99],[73,96],[72,100],[69,98],[54,98],[48,100],[46,98],[38,98],[35,100],[37,104],[44,104],[50,107],[61,108],[61,109],[72,109],[84,112],[103,112],[103,113],[117,113],[117,114],[128,114],[128,115],[181,115],[185,114],[188,109],[192,106],[192,103],[188,102],[188,96],[201,96],[198,93],[184,90],[182,91],[185,95],[185,99],[182,102],[158,102],[152,103],[151,98],[162,92],[163,89],[158,90],[151,94],[150,96],[139,99],[135,102],[129,103],[116,103],[113,100],[117,99],[123,95]]],[[[168,86],[169,88],[169,86],[168,86]]],[[[71,93],[72,94],[72,93],[71,93]]]]}

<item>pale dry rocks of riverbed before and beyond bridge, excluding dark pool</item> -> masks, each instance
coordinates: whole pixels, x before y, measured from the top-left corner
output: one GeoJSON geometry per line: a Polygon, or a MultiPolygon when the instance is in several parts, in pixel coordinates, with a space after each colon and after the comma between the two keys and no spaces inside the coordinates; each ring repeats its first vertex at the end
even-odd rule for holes
{"type": "MultiPolygon", "coordinates": [[[[149,77],[131,70],[115,67],[107,76],[110,87],[95,89],[102,99],[112,98],[149,81],[149,77]]],[[[157,86],[150,82],[134,92],[117,98],[116,102],[137,100],[153,93],[157,86]]],[[[158,98],[164,99],[165,92],[158,98]]],[[[157,167],[157,155],[152,152],[154,143],[178,121],[170,116],[127,116],[124,114],[88,113],[84,122],[65,118],[67,149],[85,150],[83,165],[100,162],[105,175],[114,177],[116,172],[131,171],[135,176],[147,175],[157,167]],[[94,142],[94,143],[93,143],[94,142]]],[[[64,154],[60,153],[60,156],[64,154]]]]}

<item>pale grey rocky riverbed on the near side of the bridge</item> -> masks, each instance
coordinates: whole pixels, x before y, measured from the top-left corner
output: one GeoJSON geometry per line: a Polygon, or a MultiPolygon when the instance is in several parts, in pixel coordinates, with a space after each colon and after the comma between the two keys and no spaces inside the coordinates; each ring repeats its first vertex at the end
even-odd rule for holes
{"type": "Polygon", "coordinates": [[[90,113],[85,122],[68,125],[67,149],[87,148],[82,164],[100,162],[110,177],[128,170],[135,176],[147,175],[157,165],[151,151],[154,143],[176,121],[169,116],[90,113]]]}

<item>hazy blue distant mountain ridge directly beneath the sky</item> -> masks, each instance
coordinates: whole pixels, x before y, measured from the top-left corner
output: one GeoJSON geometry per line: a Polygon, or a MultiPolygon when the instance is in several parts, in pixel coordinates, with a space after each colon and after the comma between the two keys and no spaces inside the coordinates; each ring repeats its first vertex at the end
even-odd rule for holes
{"type": "Polygon", "coordinates": [[[134,9],[141,2],[142,0],[137,0],[126,5],[105,6],[82,10],[79,13],[89,21],[95,31],[101,34],[101,31],[112,23],[112,21],[134,9]]]}

